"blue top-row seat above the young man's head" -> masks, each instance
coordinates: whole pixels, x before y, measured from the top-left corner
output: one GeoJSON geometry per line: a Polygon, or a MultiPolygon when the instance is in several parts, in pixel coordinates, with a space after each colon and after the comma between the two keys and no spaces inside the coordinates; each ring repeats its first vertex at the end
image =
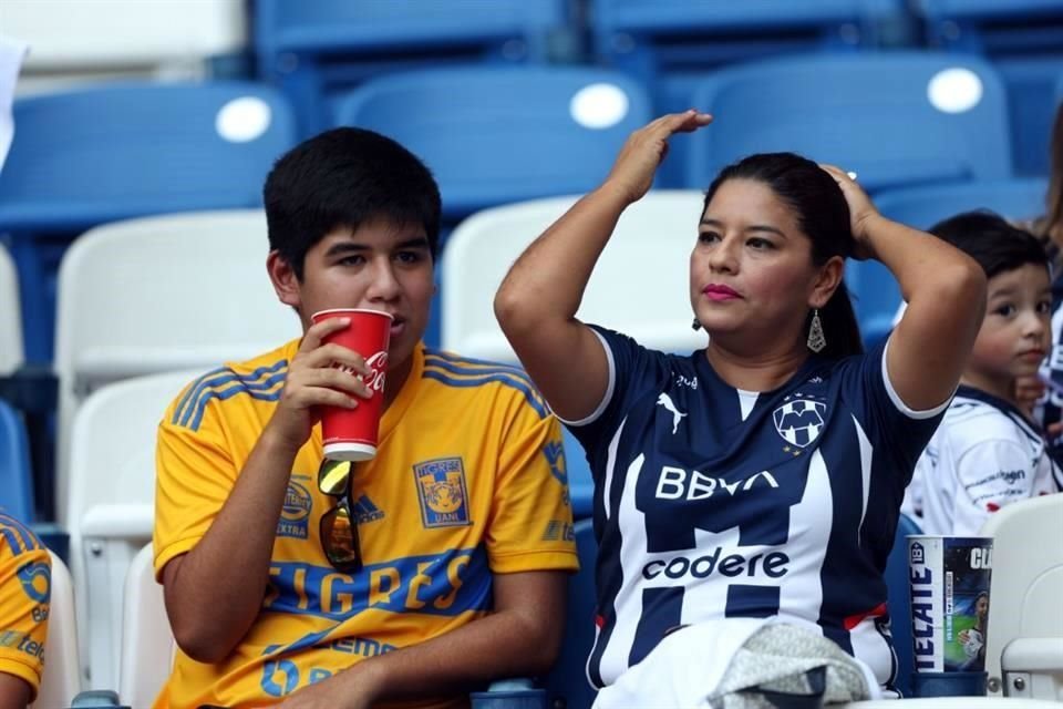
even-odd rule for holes
{"type": "Polygon", "coordinates": [[[328,126],[330,93],[376,75],[545,61],[566,14],[565,0],[258,0],[254,24],[260,75],[311,134],[328,126]]]}

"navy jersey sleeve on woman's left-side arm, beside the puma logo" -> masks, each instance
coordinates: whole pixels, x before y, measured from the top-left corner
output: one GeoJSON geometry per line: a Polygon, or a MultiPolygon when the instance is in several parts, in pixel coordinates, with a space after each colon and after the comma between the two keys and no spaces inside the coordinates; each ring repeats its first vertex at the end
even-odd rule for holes
{"type": "Polygon", "coordinates": [[[582,444],[589,459],[609,445],[609,438],[623,421],[632,403],[647,391],[660,388],[668,377],[668,356],[647,349],[627,335],[597,325],[589,326],[609,360],[609,386],[597,409],[580,421],[565,425],[582,444]]]}

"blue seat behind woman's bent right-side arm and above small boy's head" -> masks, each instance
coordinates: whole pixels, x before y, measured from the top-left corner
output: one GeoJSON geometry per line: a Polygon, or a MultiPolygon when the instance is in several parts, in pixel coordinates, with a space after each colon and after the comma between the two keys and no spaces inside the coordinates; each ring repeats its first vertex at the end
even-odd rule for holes
{"type": "MultiPolygon", "coordinates": [[[[1023,222],[1044,213],[1047,182],[1039,178],[970,182],[890,189],[875,197],[879,212],[917,229],[972,209],[990,209],[1023,222]]],[[[900,286],[878,261],[849,261],[846,281],[854,296],[866,342],[877,342],[891,329],[900,306],[900,286]]]]}

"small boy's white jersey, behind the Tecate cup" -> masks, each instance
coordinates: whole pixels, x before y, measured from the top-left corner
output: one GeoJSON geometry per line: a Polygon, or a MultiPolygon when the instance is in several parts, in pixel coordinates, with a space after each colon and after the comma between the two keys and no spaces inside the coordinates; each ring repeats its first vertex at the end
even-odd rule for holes
{"type": "Polygon", "coordinates": [[[960,387],[916,465],[922,531],[971,536],[1007,504],[1059,491],[1041,431],[1013,404],[960,387]]]}

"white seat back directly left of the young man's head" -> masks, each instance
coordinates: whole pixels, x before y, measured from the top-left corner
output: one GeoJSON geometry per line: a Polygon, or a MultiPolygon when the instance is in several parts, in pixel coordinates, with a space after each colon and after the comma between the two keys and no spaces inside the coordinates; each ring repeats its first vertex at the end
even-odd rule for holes
{"type": "MultiPolygon", "coordinates": [[[[56,500],[65,517],[74,411],[107,382],[210,369],[301,333],[266,273],[260,210],[174,214],[107,224],[78,239],[59,277],[56,500]]],[[[162,413],[162,410],[159,410],[162,413]]]]}

